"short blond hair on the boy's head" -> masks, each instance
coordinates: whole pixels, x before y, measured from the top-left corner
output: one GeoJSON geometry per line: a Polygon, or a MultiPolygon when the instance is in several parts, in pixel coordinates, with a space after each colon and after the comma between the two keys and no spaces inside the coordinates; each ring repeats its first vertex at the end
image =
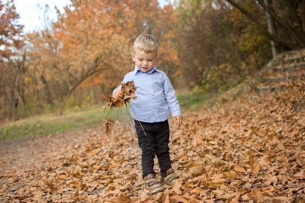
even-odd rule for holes
{"type": "Polygon", "coordinates": [[[146,54],[158,52],[158,45],[155,38],[151,35],[142,34],[134,42],[134,50],[144,51],[146,54]]]}

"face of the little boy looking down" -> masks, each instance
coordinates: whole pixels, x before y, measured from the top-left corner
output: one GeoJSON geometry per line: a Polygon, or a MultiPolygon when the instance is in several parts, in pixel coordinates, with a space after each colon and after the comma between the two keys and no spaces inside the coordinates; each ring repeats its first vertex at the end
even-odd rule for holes
{"type": "Polygon", "coordinates": [[[134,53],[131,53],[133,61],[136,63],[138,69],[144,73],[153,69],[156,59],[158,57],[157,52],[146,54],[144,51],[134,49],[134,53]]]}

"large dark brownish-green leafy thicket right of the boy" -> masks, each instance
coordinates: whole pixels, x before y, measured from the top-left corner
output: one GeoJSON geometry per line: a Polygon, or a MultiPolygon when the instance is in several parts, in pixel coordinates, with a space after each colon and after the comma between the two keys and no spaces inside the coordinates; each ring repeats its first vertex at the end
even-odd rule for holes
{"type": "Polygon", "coordinates": [[[190,88],[228,89],[269,59],[264,36],[229,4],[181,0],[176,7],[180,69],[190,88]]]}

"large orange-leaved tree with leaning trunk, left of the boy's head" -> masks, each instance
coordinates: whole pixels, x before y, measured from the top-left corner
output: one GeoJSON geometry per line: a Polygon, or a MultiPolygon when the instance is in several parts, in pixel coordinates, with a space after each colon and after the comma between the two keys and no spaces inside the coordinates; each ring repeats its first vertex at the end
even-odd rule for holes
{"type": "Polygon", "coordinates": [[[60,115],[72,92],[86,78],[109,68],[118,71],[125,67],[129,46],[125,37],[113,28],[111,4],[111,1],[71,1],[54,23],[54,38],[62,42],[58,70],[68,86],[60,115]]]}

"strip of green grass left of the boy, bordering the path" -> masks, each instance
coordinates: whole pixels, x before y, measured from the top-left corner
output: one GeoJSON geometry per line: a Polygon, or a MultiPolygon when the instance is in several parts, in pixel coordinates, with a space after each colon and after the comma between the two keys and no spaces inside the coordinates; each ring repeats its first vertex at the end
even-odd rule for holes
{"type": "MultiPolygon", "coordinates": [[[[129,109],[128,109],[128,112],[129,109]]],[[[10,122],[0,126],[0,141],[17,139],[25,136],[45,135],[53,132],[73,130],[78,128],[90,128],[103,125],[106,113],[100,111],[100,106],[85,107],[77,110],[67,111],[63,116],[42,115],[16,122],[10,122]]],[[[115,120],[117,108],[113,109],[111,120],[115,120]]],[[[125,106],[118,116],[118,120],[130,119],[125,106]]]]}

